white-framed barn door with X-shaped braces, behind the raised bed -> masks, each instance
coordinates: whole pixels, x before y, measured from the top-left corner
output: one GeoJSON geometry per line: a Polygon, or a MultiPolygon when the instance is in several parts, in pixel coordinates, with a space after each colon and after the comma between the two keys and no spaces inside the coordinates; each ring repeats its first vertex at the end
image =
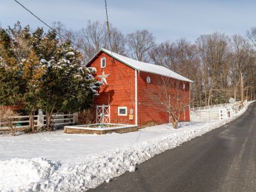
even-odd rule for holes
{"type": "Polygon", "coordinates": [[[97,115],[96,115],[97,124],[110,124],[110,106],[102,105],[97,106],[97,115]]]}

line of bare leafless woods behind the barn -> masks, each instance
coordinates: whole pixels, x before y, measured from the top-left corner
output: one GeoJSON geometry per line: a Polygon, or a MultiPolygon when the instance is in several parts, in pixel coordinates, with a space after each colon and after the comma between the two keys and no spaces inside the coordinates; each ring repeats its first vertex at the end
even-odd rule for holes
{"type": "Polygon", "coordinates": [[[84,62],[104,47],[188,77],[194,81],[191,106],[221,104],[230,97],[256,99],[256,28],[250,29],[246,36],[215,32],[200,35],[193,43],[180,38],[157,44],[147,30],[124,35],[110,26],[108,35],[106,24],[99,21],[88,21],[79,31],[67,30],[61,22],[55,22],[54,26],[78,45],[74,47],[83,52],[84,62]]]}

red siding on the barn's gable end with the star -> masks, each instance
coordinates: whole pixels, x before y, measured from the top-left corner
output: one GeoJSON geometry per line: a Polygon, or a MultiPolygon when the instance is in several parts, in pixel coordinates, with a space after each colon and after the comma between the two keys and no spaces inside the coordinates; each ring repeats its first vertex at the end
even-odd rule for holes
{"type": "MultiPolygon", "coordinates": [[[[135,71],[118,60],[113,60],[102,52],[91,67],[97,69],[97,76],[104,71],[109,74],[106,78],[108,86],[100,88],[100,95],[96,98],[97,105],[110,104],[110,118],[112,124],[135,124],[135,71]],[[100,67],[100,58],[106,58],[106,67],[100,67]],[[118,107],[127,107],[127,116],[118,116],[118,107]],[[129,111],[133,109],[134,118],[129,120],[129,111]]],[[[99,79],[99,77],[97,77],[99,79]]]]}

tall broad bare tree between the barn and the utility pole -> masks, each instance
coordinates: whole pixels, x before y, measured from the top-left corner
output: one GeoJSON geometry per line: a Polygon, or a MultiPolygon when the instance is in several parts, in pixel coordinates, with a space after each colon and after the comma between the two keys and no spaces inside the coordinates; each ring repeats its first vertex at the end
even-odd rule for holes
{"type": "Polygon", "coordinates": [[[225,34],[213,33],[212,35],[201,35],[196,44],[198,55],[202,65],[205,106],[212,102],[225,102],[225,92],[223,87],[227,86],[228,76],[228,47],[229,38],[225,34]],[[218,97],[217,97],[218,95],[218,97]]]}

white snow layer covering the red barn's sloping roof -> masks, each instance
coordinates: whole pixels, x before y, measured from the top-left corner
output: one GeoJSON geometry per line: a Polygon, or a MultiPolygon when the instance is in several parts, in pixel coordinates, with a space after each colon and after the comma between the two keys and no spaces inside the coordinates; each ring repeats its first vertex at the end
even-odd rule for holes
{"type": "Polygon", "coordinates": [[[173,72],[172,70],[170,70],[166,67],[132,60],[131,58],[127,58],[125,56],[122,56],[115,52],[108,51],[103,48],[100,49],[100,51],[106,52],[110,56],[113,56],[113,58],[115,58],[116,60],[122,61],[122,63],[125,63],[126,65],[129,65],[130,67],[135,68],[136,70],[141,70],[143,72],[150,72],[152,74],[158,74],[158,75],[166,76],[166,77],[172,77],[173,79],[178,79],[180,81],[188,81],[188,82],[193,83],[193,81],[191,81],[190,79],[180,76],[179,74],[173,72]]]}

